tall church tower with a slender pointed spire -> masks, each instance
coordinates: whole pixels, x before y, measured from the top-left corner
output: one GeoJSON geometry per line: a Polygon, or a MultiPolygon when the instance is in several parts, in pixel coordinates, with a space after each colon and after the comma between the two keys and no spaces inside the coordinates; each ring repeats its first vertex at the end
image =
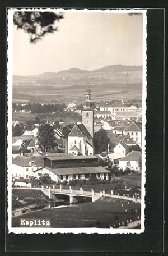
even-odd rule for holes
{"type": "Polygon", "coordinates": [[[82,123],[85,125],[92,138],[94,138],[94,109],[91,108],[91,91],[88,86],[89,85],[87,85],[86,90],[86,103],[82,110],[82,123]]]}

